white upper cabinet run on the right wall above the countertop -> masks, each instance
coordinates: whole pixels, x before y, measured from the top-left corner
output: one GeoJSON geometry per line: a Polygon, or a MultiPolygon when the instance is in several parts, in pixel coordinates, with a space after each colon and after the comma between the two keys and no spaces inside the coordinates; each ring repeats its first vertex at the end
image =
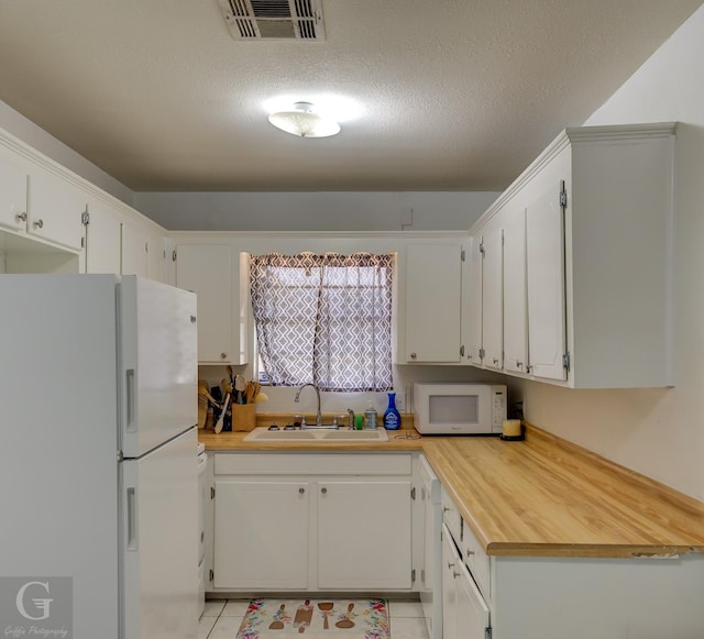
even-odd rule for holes
{"type": "MultiPolygon", "coordinates": [[[[673,180],[672,123],[568,129],[492,205],[471,233],[485,246],[488,228],[504,233],[492,284],[504,372],[574,388],[674,383],[673,180]]],[[[483,269],[486,305],[486,255],[483,269]]],[[[493,328],[484,309],[485,349],[493,328]]]]}

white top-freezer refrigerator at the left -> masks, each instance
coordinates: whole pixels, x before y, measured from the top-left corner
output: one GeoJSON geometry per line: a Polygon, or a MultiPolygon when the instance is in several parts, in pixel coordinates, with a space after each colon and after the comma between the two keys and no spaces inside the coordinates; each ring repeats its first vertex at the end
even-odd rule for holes
{"type": "Polygon", "coordinates": [[[25,636],[197,637],[196,327],[194,294],[135,276],[0,275],[0,617],[25,636]]]}

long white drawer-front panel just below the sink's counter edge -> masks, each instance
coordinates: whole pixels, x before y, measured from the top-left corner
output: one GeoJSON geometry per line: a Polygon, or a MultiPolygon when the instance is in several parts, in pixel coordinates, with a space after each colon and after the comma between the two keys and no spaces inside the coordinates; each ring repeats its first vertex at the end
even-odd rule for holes
{"type": "Polygon", "coordinates": [[[216,453],[216,475],[410,475],[408,453],[216,453]]]}

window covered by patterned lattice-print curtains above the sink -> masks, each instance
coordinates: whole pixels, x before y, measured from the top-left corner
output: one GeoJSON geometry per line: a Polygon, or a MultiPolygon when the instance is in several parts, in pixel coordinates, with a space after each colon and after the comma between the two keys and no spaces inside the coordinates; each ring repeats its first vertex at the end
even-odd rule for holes
{"type": "Polygon", "coordinates": [[[394,254],[253,255],[252,310],[273,385],[392,389],[394,254]]]}

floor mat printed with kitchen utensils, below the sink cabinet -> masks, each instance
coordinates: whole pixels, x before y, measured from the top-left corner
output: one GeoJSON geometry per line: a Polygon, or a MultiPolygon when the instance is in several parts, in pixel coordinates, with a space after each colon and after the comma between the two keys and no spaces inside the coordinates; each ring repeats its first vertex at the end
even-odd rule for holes
{"type": "Polygon", "coordinates": [[[235,639],[389,639],[385,599],[252,599],[235,639]]]}

